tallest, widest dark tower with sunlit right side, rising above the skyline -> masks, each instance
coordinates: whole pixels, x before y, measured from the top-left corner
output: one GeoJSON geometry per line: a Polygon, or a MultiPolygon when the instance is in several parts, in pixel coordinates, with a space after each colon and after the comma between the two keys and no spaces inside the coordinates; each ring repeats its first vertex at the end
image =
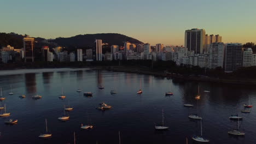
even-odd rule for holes
{"type": "Polygon", "coordinates": [[[205,29],[193,28],[185,31],[185,47],[189,51],[203,53],[203,48],[206,47],[205,29]]]}

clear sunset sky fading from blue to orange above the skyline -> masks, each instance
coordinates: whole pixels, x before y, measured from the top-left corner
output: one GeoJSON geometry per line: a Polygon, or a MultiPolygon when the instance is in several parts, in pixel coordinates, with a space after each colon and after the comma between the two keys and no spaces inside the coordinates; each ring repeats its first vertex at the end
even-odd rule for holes
{"type": "Polygon", "coordinates": [[[57,38],[120,33],[150,43],[184,45],[187,29],[224,43],[256,43],[255,0],[1,0],[0,32],[57,38]]]}

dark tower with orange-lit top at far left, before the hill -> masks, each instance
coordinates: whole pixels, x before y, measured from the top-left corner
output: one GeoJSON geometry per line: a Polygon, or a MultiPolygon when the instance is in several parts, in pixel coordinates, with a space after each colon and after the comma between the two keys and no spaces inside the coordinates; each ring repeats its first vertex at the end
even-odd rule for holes
{"type": "Polygon", "coordinates": [[[34,38],[23,38],[25,62],[34,62],[34,38]]]}

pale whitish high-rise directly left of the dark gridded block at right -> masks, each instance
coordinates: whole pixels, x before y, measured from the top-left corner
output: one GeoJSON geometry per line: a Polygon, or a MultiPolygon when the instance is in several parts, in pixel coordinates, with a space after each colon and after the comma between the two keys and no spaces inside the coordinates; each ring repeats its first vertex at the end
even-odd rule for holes
{"type": "Polygon", "coordinates": [[[212,43],[209,48],[209,65],[210,69],[222,67],[224,64],[224,43],[212,43]]]}

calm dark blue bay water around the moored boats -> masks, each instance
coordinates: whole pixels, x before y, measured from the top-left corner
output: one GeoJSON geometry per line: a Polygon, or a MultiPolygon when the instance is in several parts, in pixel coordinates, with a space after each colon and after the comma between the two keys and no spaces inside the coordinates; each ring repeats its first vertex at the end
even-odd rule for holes
{"type": "MultiPolygon", "coordinates": [[[[244,137],[228,135],[230,129],[236,128],[236,122],[229,116],[243,109],[242,104],[248,102],[256,106],[256,89],[247,86],[220,85],[201,82],[173,82],[171,79],[150,75],[118,73],[99,70],[43,70],[0,71],[0,86],[6,100],[10,117],[0,118],[0,143],[73,143],[73,132],[77,143],[194,143],[191,136],[200,134],[200,122],[191,121],[189,113],[199,113],[203,117],[203,135],[210,143],[256,143],[256,112],[255,107],[248,114],[240,113],[244,118],[240,122],[244,137]],[[137,95],[139,80],[143,93],[137,95]],[[104,89],[98,89],[103,83],[104,89]],[[8,95],[10,85],[14,95],[8,95]],[[201,99],[194,100],[200,86],[201,99]],[[61,87],[66,99],[60,100],[61,87]],[[76,92],[94,93],[87,98],[76,92]],[[117,89],[118,93],[111,95],[110,91],[117,89]],[[211,91],[205,93],[203,91],[211,91]],[[172,91],[171,97],[165,92],[172,91]],[[19,95],[26,94],[20,99],[19,95]],[[31,96],[40,94],[40,100],[31,96]],[[60,122],[63,115],[63,105],[74,107],[69,112],[70,119],[60,122]],[[112,105],[113,109],[101,111],[95,108],[99,103],[112,105]],[[193,108],[184,107],[191,103],[193,108]],[[197,106],[196,106],[197,105],[197,106]],[[197,107],[197,109],[196,109],[197,107]],[[168,131],[155,131],[154,123],[161,122],[161,111],[165,111],[165,122],[170,127],[168,131]],[[88,112],[88,115],[86,114],[88,112]],[[92,130],[80,129],[81,123],[94,125],[92,130]],[[18,119],[16,125],[5,125],[9,118],[18,119]],[[48,130],[53,136],[50,139],[39,139],[45,133],[45,118],[48,120],[48,130]]],[[[3,112],[1,110],[0,112],[3,112]]]]}

